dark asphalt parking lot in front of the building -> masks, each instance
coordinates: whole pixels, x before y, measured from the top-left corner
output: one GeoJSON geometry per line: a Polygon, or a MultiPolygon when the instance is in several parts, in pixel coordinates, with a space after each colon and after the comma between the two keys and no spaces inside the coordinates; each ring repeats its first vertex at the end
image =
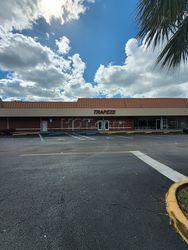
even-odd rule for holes
{"type": "Polygon", "coordinates": [[[165,210],[187,163],[186,134],[2,137],[0,249],[187,249],[165,210]]]}

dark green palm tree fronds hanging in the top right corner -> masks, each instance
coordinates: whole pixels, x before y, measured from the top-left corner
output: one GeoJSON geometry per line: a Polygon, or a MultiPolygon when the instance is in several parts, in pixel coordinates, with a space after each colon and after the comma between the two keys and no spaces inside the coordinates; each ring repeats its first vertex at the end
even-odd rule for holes
{"type": "Polygon", "coordinates": [[[188,58],[188,0],[139,0],[138,37],[154,48],[167,41],[157,63],[169,69],[188,58]]]}

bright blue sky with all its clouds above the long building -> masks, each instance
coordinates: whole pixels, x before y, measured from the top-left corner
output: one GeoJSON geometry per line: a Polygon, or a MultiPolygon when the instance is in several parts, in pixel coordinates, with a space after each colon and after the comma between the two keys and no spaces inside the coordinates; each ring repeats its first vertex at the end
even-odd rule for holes
{"type": "Polygon", "coordinates": [[[137,39],[137,0],[0,3],[0,98],[188,97],[188,65],[156,66],[137,39]]]}

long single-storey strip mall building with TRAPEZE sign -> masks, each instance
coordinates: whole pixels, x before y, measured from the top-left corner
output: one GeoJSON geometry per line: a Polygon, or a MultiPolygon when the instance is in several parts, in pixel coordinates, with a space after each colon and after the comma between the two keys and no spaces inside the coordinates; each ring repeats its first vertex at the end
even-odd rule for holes
{"type": "Polygon", "coordinates": [[[76,102],[0,101],[0,129],[124,131],[188,127],[186,98],[81,98],[76,102]]]}

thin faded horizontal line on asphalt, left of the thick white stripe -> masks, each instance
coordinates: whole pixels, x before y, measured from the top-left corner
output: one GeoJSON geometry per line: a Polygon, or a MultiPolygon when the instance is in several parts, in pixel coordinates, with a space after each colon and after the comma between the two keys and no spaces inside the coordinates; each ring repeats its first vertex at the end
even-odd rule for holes
{"type": "Polygon", "coordinates": [[[91,152],[59,152],[59,153],[34,153],[21,154],[21,157],[29,156],[56,156],[56,155],[91,155],[91,154],[130,154],[130,151],[91,151],[91,152]]]}

